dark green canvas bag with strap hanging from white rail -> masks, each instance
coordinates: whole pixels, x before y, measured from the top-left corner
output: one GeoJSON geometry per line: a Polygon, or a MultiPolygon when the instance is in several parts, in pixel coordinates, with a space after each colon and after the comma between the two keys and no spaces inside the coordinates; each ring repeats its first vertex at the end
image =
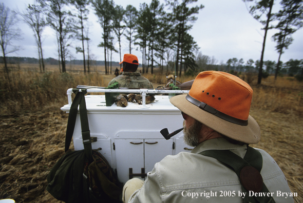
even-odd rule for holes
{"type": "Polygon", "coordinates": [[[96,150],[92,150],[87,110],[86,89],[73,89],[75,97],[70,107],[65,137],[65,155],[52,167],[47,176],[46,190],[64,202],[120,202],[122,184],[108,164],[96,150]],[[84,150],[71,151],[69,145],[80,111],[84,150]]]}

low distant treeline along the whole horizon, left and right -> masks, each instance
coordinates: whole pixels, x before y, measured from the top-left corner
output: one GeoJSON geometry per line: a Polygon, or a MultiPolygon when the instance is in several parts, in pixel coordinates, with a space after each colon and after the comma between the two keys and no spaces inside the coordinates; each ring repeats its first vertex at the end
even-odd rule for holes
{"type": "MultiPolygon", "coordinates": [[[[47,65],[59,65],[60,61],[54,58],[46,58],[45,64],[47,65]]],[[[7,62],[9,64],[39,64],[39,59],[33,57],[7,57],[7,62]]],[[[185,75],[195,76],[197,73],[206,70],[216,70],[216,71],[224,71],[230,72],[233,74],[238,74],[242,72],[246,73],[258,73],[258,69],[260,66],[260,60],[253,60],[249,59],[247,62],[244,62],[243,58],[230,58],[226,61],[226,63],[221,62],[218,64],[218,60],[215,57],[210,57],[207,55],[202,55],[201,52],[197,54],[197,57],[194,60],[196,67],[195,69],[186,69],[184,71],[185,75]]],[[[0,56],[0,64],[3,64],[4,60],[3,57],[0,56]]],[[[67,65],[83,65],[83,60],[67,60],[67,65]]],[[[90,60],[90,64],[97,65],[97,66],[104,66],[104,60],[90,60]]],[[[111,62],[113,67],[119,67],[119,62],[111,62]]],[[[262,70],[262,77],[266,78],[271,74],[275,74],[277,63],[274,60],[266,60],[263,62],[263,70],[262,70]]],[[[303,59],[290,59],[288,62],[281,62],[280,61],[280,75],[289,75],[289,76],[296,76],[298,80],[303,80],[301,76],[303,74],[303,59]]],[[[139,64],[139,67],[142,67],[139,64]]],[[[169,61],[167,65],[161,67],[155,67],[160,69],[163,74],[172,74],[175,73],[175,63],[169,61]],[[163,72],[164,71],[164,72],[163,72]]]]}

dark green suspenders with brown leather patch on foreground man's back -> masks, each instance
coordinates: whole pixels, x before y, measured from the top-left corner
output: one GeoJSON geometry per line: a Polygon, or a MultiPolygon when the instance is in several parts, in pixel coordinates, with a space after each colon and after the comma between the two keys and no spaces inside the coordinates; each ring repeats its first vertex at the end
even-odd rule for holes
{"type": "Polygon", "coordinates": [[[241,158],[230,150],[205,150],[199,154],[215,158],[236,172],[240,178],[242,190],[243,192],[246,192],[244,197],[245,203],[275,203],[271,195],[268,197],[267,195],[249,196],[248,194],[248,191],[253,191],[254,193],[262,192],[266,194],[269,192],[266,185],[264,185],[263,178],[260,174],[263,164],[262,155],[254,148],[248,146],[244,158],[241,158]]]}

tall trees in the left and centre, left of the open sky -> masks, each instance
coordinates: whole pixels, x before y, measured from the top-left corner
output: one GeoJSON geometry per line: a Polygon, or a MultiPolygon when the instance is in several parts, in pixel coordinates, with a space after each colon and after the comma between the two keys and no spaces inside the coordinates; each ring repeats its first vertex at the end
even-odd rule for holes
{"type": "MultiPolygon", "coordinates": [[[[110,60],[113,53],[119,53],[122,60],[121,40],[126,38],[129,46],[129,53],[138,49],[142,53],[143,73],[153,73],[154,67],[163,66],[173,60],[176,62],[176,70],[179,74],[186,68],[195,68],[194,51],[198,49],[188,31],[196,21],[200,6],[191,6],[198,0],[165,0],[165,5],[159,0],[151,0],[150,4],[140,4],[140,9],[128,5],[123,8],[116,5],[113,0],[37,0],[34,4],[28,5],[26,10],[18,15],[33,30],[39,53],[39,64],[41,72],[44,71],[44,58],[42,38],[46,27],[56,32],[58,43],[58,58],[60,58],[60,70],[66,71],[66,63],[71,47],[83,54],[84,72],[89,72],[89,21],[90,8],[97,15],[102,33],[102,47],[104,54],[105,73],[108,73],[110,60]],[[81,43],[81,46],[75,45],[81,43]],[[114,43],[118,42],[119,47],[114,43]],[[77,44],[78,44],[77,43],[77,44]],[[87,62],[86,62],[87,60],[87,62]]],[[[3,17],[11,19],[8,25],[11,27],[8,32],[14,36],[11,40],[20,39],[20,32],[17,30],[17,16],[10,12],[9,8],[0,4],[0,13],[3,17]],[[16,29],[12,29],[16,27],[16,29]]],[[[2,26],[0,26],[0,29],[2,26]]],[[[4,42],[12,45],[11,42],[4,42]]],[[[3,46],[6,47],[6,46],[3,46]]],[[[15,46],[13,51],[18,49],[15,46]]],[[[12,51],[3,50],[5,70],[7,70],[6,53],[12,51]]]]}

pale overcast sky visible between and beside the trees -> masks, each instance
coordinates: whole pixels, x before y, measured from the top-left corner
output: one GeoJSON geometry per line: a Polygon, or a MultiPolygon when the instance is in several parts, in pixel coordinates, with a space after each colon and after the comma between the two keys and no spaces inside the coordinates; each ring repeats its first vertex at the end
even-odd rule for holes
{"type": "MultiPolygon", "coordinates": [[[[24,11],[28,4],[34,3],[34,0],[0,0],[0,2],[11,10],[24,11]]],[[[139,10],[140,3],[150,4],[151,0],[114,0],[114,2],[124,9],[130,4],[139,10]]],[[[160,0],[160,2],[164,3],[164,0],[160,0]]],[[[247,62],[250,58],[253,60],[260,59],[264,31],[261,30],[262,25],[249,14],[241,0],[199,0],[198,3],[191,6],[200,4],[204,8],[196,15],[198,19],[194,23],[190,34],[194,37],[203,55],[215,57],[217,64],[226,63],[228,59],[234,57],[243,58],[244,62],[247,62]]],[[[280,5],[276,3],[274,11],[279,8],[280,5]]],[[[94,55],[94,59],[104,60],[103,49],[97,47],[102,41],[102,30],[93,10],[90,11],[88,21],[90,23],[89,37],[91,38],[90,53],[94,55]]],[[[22,29],[23,40],[14,43],[20,44],[22,50],[9,56],[38,58],[33,31],[24,23],[20,23],[18,26],[22,29]]],[[[276,43],[271,39],[271,36],[276,32],[277,30],[268,32],[264,60],[277,61],[278,59],[278,53],[275,50],[276,43]]],[[[292,37],[294,38],[293,43],[282,54],[282,62],[287,62],[291,58],[303,59],[303,29],[295,32],[292,37]]],[[[58,58],[54,31],[51,28],[46,28],[43,38],[44,58],[58,58]]],[[[80,41],[73,40],[72,46],[80,46],[80,41]]],[[[116,47],[118,48],[118,43],[116,47]]],[[[128,44],[124,38],[122,55],[128,52],[128,44]]],[[[74,48],[70,48],[70,53],[75,59],[83,58],[81,53],[75,53],[74,48]]],[[[134,50],[132,54],[138,56],[139,63],[142,61],[140,51],[134,50]]],[[[113,54],[113,61],[118,62],[119,60],[119,54],[113,54]]]]}

